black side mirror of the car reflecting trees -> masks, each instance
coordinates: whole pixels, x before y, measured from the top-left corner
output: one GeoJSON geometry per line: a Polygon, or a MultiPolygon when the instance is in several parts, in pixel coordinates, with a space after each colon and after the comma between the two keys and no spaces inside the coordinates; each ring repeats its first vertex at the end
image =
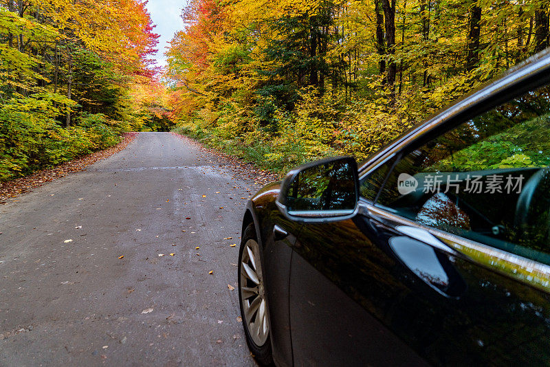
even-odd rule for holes
{"type": "Polygon", "coordinates": [[[333,157],[291,170],[276,204],[294,221],[328,222],[351,218],[358,211],[359,178],[353,157],[333,157]]]}

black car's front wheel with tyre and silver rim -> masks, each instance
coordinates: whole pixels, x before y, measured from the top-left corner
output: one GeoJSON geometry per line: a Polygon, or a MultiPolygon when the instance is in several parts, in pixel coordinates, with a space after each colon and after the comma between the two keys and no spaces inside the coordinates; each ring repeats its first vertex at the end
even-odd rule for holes
{"type": "Polygon", "coordinates": [[[245,228],[239,249],[239,301],[246,342],[252,355],[260,364],[272,364],[270,324],[254,223],[245,228]]]}

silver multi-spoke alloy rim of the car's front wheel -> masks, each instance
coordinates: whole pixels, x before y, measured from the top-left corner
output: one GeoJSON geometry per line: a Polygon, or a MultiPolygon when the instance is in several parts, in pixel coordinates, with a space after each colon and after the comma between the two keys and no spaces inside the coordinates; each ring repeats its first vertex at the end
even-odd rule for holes
{"type": "Polygon", "coordinates": [[[245,243],[241,256],[241,302],[248,333],[254,344],[263,346],[269,335],[267,305],[260,263],[258,243],[253,239],[245,243]]]}

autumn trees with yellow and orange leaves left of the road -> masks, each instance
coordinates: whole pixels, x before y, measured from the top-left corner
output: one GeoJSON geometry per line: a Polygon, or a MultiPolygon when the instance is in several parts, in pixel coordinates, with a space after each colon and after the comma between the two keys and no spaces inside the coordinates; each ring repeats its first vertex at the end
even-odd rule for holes
{"type": "Polygon", "coordinates": [[[0,181],[158,129],[153,28],[141,0],[2,1],[0,181]]]}

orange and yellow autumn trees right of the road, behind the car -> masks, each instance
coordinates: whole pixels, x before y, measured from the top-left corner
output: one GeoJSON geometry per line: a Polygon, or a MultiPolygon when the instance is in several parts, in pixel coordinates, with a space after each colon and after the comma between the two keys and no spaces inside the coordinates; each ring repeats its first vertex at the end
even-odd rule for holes
{"type": "Polygon", "coordinates": [[[181,16],[177,131],[270,168],[363,159],[550,45],[547,0],[191,0],[181,16]]]}

